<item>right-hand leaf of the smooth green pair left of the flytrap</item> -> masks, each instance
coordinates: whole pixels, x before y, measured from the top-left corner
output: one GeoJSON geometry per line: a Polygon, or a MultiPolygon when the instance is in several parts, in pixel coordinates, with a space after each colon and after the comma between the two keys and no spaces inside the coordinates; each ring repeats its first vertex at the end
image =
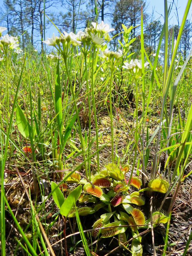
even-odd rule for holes
{"type": "Polygon", "coordinates": [[[68,216],[68,213],[71,211],[73,205],[79,198],[82,191],[82,185],[78,185],[66,198],[65,202],[60,208],[61,215],[68,216]]]}

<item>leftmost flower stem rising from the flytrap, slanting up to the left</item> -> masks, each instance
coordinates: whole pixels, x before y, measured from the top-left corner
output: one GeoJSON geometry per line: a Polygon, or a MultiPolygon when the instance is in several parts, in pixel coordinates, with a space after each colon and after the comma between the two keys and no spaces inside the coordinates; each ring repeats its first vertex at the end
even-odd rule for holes
{"type": "MultiPolygon", "coordinates": [[[[83,155],[83,161],[85,162],[85,152],[84,152],[84,148],[83,148],[83,137],[82,137],[82,132],[81,132],[81,124],[80,124],[80,120],[79,120],[79,114],[78,114],[78,109],[77,109],[75,94],[74,94],[74,91],[73,91],[72,81],[71,81],[71,77],[70,77],[69,70],[68,70],[67,56],[66,56],[66,55],[63,55],[63,57],[64,57],[66,73],[67,73],[67,77],[68,77],[68,79],[69,79],[69,84],[70,84],[70,88],[71,88],[71,93],[72,93],[72,97],[73,97],[73,101],[74,101],[75,112],[76,112],[76,114],[77,114],[77,123],[78,123],[78,127],[79,127],[79,137],[80,137],[80,141],[81,141],[81,150],[82,150],[82,155],[83,155]]],[[[85,162],[85,176],[88,178],[86,162],[85,162]]]]}

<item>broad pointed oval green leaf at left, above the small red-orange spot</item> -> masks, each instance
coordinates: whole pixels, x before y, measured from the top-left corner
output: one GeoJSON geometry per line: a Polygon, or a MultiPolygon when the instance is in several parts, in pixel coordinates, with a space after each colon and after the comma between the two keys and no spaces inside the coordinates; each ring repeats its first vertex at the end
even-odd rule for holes
{"type": "MultiPolygon", "coordinates": [[[[28,121],[23,113],[23,110],[18,105],[16,110],[16,123],[21,134],[27,138],[29,136],[28,121]]],[[[30,125],[29,125],[30,127],[30,125]]]]}

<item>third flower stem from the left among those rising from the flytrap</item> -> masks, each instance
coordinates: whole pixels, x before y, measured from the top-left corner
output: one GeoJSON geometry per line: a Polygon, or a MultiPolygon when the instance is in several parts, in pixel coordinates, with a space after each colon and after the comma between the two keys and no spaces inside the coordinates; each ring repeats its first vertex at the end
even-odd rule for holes
{"type": "MultiPolygon", "coordinates": [[[[92,101],[93,101],[93,111],[95,119],[95,132],[96,132],[96,149],[99,149],[99,140],[98,140],[98,127],[97,127],[97,115],[95,108],[95,93],[94,93],[94,58],[95,58],[96,46],[93,46],[93,59],[92,59],[92,69],[91,69],[91,91],[92,91],[92,101]]],[[[97,152],[97,171],[99,172],[99,151],[97,152]]]]}

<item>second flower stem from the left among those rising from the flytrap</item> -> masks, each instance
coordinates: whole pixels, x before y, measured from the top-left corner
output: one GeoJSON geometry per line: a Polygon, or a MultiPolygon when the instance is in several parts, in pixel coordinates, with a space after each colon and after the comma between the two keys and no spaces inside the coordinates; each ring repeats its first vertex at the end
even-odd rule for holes
{"type": "MultiPolygon", "coordinates": [[[[88,135],[88,153],[87,153],[87,157],[89,157],[90,156],[90,140],[91,140],[91,104],[90,104],[89,83],[88,83],[88,76],[87,76],[87,53],[85,52],[85,47],[84,47],[84,58],[85,58],[85,77],[86,77],[88,107],[89,107],[89,135],[88,135]]],[[[89,160],[88,170],[89,170],[89,179],[91,180],[90,162],[91,161],[89,160]]]]}

